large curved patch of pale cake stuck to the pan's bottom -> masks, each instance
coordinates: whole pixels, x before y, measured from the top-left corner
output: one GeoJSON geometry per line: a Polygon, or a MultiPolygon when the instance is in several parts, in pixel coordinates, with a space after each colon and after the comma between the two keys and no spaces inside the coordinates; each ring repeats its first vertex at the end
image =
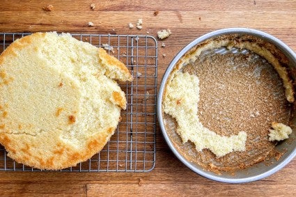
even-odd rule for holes
{"type": "Polygon", "coordinates": [[[203,126],[198,120],[199,87],[198,77],[188,72],[178,72],[166,88],[164,112],[176,118],[177,132],[183,143],[192,141],[196,150],[208,148],[217,157],[229,152],[244,151],[246,132],[222,136],[203,126]]]}

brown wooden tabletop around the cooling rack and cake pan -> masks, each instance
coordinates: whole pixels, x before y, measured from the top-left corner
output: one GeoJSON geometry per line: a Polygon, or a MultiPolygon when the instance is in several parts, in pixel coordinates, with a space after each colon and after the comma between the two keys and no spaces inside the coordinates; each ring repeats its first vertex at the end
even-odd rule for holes
{"type": "MultiPolygon", "coordinates": [[[[0,32],[63,31],[156,37],[157,31],[171,29],[172,35],[164,40],[166,47],[158,49],[158,84],[182,47],[204,33],[227,27],[265,31],[296,51],[296,1],[0,1],[0,32]],[[95,3],[94,10],[91,3],[95,3]],[[51,12],[42,10],[47,4],[54,6],[51,12]],[[143,29],[129,29],[127,24],[136,24],[139,18],[143,19],[143,29]],[[88,26],[88,22],[94,26],[88,26]]],[[[0,196],[295,196],[295,168],[293,159],[281,171],[256,182],[226,184],[208,180],[173,156],[157,126],[156,164],[149,173],[1,171],[0,196]]]]}

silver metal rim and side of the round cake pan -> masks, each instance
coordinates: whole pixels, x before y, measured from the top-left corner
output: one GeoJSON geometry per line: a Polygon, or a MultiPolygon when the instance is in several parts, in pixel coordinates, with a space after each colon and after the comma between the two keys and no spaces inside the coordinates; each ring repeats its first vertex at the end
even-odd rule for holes
{"type": "Polygon", "coordinates": [[[286,164],[288,164],[295,157],[296,155],[295,130],[293,130],[293,133],[290,134],[289,143],[279,143],[279,145],[276,145],[276,149],[287,150],[286,153],[278,161],[274,160],[270,165],[263,164],[264,162],[260,162],[249,168],[235,171],[235,175],[231,173],[224,173],[224,172],[221,172],[221,175],[218,175],[217,173],[207,171],[203,169],[201,166],[194,164],[192,161],[188,161],[187,159],[185,159],[185,157],[183,157],[180,154],[180,152],[178,152],[178,149],[175,147],[175,145],[171,141],[166,131],[166,128],[164,126],[164,112],[162,111],[162,100],[163,100],[164,90],[166,86],[166,81],[168,80],[171,72],[175,68],[180,58],[182,58],[182,56],[184,56],[187,52],[190,51],[190,49],[192,49],[199,43],[204,42],[205,40],[208,40],[210,38],[216,38],[218,36],[224,36],[228,34],[250,35],[250,36],[254,36],[256,38],[265,40],[267,42],[270,42],[274,46],[276,46],[288,58],[289,67],[291,68],[296,67],[295,52],[293,52],[293,50],[290,49],[290,47],[288,47],[281,40],[279,40],[278,38],[275,38],[274,36],[271,36],[268,33],[265,33],[263,31],[258,31],[255,29],[245,29],[245,28],[230,28],[230,29],[220,29],[217,31],[212,31],[210,33],[207,33],[197,38],[196,40],[189,43],[189,45],[185,46],[175,56],[175,58],[173,58],[173,60],[169,64],[169,67],[166,69],[166,72],[164,73],[164,76],[162,78],[162,83],[160,84],[160,87],[159,87],[159,93],[157,97],[157,116],[159,120],[159,127],[162,129],[162,134],[164,136],[164,139],[166,140],[166,143],[169,145],[169,148],[171,148],[174,155],[176,155],[176,157],[178,157],[178,159],[180,159],[180,161],[182,161],[182,163],[185,164],[185,166],[190,168],[192,171],[194,171],[195,173],[198,173],[199,175],[202,175],[205,178],[209,178],[211,180],[215,180],[219,182],[228,182],[228,183],[252,182],[252,181],[260,180],[262,178],[266,178],[267,176],[270,176],[273,173],[276,173],[276,171],[279,171],[281,168],[286,166],[286,164]]]}

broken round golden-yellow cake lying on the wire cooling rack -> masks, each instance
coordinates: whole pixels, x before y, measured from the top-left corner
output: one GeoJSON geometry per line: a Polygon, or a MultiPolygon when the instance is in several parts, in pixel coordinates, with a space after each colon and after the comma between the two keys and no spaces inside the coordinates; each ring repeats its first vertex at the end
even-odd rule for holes
{"type": "Polygon", "coordinates": [[[40,169],[75,166],[102,150],[126,107],[123,63],[70,34],[33,33],[0,56],[0,143],[40,169]]]}

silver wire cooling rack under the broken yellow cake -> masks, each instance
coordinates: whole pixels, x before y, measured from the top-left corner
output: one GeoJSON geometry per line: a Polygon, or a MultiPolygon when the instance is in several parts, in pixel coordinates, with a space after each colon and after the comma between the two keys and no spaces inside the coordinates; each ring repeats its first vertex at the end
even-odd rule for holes
{"type": "MultiPolygon", "coordinates": [[[[0,53],[29,33],[0,33],[0,53]]],[[[72,34],[74,38],[104,47],[127,65],[132,83],[120,83],[127,109],[104,149],[88,161],[61,171],[147,172],[155,166],[157,94],[157,42],[152,36],[72,34]]],[[[40,171],[18,164],[0,145],[0,171],[40,171]]]]}

